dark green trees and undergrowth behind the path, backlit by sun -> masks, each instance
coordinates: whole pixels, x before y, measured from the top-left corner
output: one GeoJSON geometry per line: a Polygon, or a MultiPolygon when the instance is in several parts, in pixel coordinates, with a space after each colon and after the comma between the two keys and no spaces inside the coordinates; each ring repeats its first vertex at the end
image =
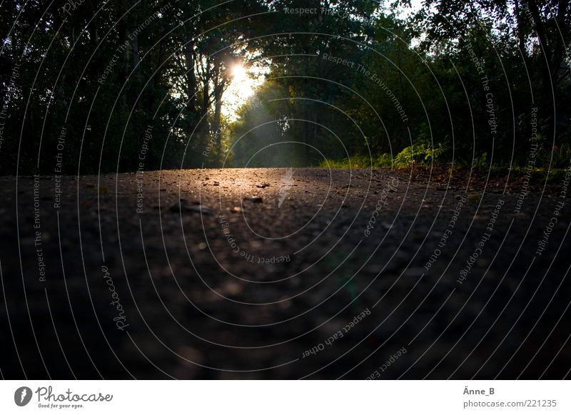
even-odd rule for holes
{"type": "Polygon", "coordinates": [[[4,1],[0,173],[349,157],[525,166],[530,154],[534,168],[567,167],[569,2],[427,0],[402,14],[408,6],[4,1]],[[285,11],[295,8],[318,12],[285,11]],[[236,63],[267,72],[228,119],[236,63]]]}

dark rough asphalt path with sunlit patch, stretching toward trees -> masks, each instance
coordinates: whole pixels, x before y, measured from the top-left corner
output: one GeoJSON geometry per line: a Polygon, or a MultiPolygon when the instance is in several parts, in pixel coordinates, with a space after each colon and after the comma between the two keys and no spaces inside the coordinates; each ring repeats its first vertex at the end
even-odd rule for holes
{"type": "Polygon", "coordinates": [[[569,376],[557,193],[285,168],[0,186],[6,378],[569,376]]]}

